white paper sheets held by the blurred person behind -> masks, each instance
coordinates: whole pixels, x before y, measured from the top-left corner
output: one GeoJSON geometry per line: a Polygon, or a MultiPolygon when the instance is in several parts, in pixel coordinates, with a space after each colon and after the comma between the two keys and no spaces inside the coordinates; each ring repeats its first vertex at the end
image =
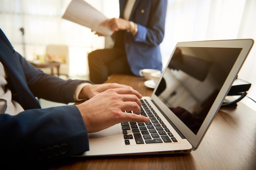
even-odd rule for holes
{"type": "Polygon", "coordinates": [[[86,26],[103,35],[112,35],[109,26],[102,26],[108,18],[84,0],[72,0],[62,18],[86,26]]]}

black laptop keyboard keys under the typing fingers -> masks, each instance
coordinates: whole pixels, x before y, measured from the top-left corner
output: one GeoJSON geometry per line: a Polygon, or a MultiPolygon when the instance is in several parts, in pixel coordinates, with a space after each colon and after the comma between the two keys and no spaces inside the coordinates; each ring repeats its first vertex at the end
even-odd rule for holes
{"type": "MultiPolygon", "coordinates": [[[[156,144],[177,142],[173,134],[166,127],[153,108],[144,99],[141,99],[141,115],[150,118],[149,122],[121,122],[124,142],[130,145],[130,140],[135,140],[136,144],[156,144]]],[[[132,111],[126,111],[132,113],[132,111]]]]}

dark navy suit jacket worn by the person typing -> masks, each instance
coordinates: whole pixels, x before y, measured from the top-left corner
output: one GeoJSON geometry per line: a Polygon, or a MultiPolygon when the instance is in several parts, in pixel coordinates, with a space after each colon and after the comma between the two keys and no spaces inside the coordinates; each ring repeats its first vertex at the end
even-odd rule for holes
{"type": "Polygon", "coordinates": [[[0,61],[12,99],[25,109],[16,116],[0,114],[0,162],[54,159],[89,150],[88,133],[76,106],[42,109],[36,100],[74,102],[74,90],[82,80],[65,81],[38,70],[14,51],[1,29],[0,61]]]}

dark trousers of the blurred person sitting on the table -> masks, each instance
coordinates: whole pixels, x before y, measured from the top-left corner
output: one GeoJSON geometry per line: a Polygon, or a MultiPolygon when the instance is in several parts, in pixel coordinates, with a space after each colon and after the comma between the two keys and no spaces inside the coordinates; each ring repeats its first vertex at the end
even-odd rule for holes
{"type": "Polygon", "coordinates": [[[101,84],[112,74],[133,75],[123,49],[100,49],[88,54],[90,80],[101,84]]]}

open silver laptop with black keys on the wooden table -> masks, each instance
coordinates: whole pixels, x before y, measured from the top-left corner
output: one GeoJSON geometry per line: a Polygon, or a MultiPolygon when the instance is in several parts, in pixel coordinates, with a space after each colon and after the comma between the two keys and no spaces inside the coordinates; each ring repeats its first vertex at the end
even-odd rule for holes
{"type": "MultiPolygon", "coordinates": [[[[89,134],[85,157],[188,153],[196,150],[254,40],[178,42],[141,114],[150,122],[121,122],[89,134]]],[[[128,111],[131,112],[132,111],[128,111]]]]}

